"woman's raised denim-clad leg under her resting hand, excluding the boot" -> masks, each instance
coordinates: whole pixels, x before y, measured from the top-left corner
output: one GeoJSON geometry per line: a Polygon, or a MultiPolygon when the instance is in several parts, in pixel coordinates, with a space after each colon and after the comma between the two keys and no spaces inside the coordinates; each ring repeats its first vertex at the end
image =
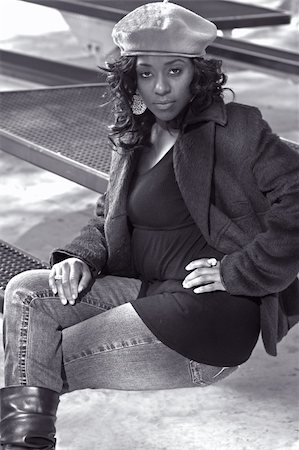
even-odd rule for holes
{"type": "MultiPolygon", "coordinates": [[[[62,389],[62,330],[125,301],[134,300],[140,281],[104,277],[76,305],[62,305],[49,289],[48,270],[14,277],[5,291],[5,385],[62,389]]],[[[80,336],[78,336],[80,339],[80,336]]],[[[75,343],[76,344],[76,343],[75,343]]]]}

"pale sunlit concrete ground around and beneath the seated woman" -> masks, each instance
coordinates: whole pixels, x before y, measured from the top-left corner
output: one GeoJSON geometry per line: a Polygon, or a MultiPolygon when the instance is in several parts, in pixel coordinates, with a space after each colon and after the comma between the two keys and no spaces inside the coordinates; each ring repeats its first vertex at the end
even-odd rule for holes
{"type": "MultiPolygon", "coordinates": [[[[51,52],[60,52],[61,33],[66,30],[47,36],[51,43],[44,45],[51,52]]],[[[69,34],[68,39],[72,42],[69,34]]],[[[10,42],[19,45],[20,38],[10,42]]],[[[33,42],[28,39],[26,45],[33,42]]],[[[0,85],[3,90],[34,87],[4,78],[0,85]]],[[[279,135],[299,142],[293,81],[234,69],[230,86],[239,101],[259,106],[279,135]]],[[[0,151],[0,236],[44,260],[78,233],[96,197],[0,151]]],[[[259,342],[238,372],[210,388],[67,394],[59,408],[57,450],[299,450],[298,339],[297,327],[279,345],[277,358],[259,342]]]]}

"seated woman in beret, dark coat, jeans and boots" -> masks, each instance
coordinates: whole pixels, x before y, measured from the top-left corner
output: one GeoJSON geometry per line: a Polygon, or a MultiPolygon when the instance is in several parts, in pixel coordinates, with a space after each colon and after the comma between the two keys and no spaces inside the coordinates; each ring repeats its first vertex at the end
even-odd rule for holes
{"type": "Polygon", "coordinates": [[[80,236],[5,298],[5,449],[55,447],[59,395],[206,386],[298,314],[298,158],[222,99],[216,27],[151,3],[113,30],[109,188],[80,236]]]}

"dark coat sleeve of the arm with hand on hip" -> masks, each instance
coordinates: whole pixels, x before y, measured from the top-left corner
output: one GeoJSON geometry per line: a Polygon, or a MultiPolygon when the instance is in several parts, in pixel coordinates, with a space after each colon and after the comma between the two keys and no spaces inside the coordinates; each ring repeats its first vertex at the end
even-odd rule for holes
{"type": "Polygon", "coordinates": [[[260,297],[287,288],[299,270],[299,157],[258,111],[250,125],[250,169],[270,208],[264,231],[223,258],[221,277],[230,294],[260,297]]]}

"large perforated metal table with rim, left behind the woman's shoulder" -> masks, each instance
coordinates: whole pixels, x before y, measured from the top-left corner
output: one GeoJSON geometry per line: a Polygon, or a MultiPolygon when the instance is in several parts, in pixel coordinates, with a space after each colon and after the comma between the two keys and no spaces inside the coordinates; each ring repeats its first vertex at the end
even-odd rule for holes
{"type": "Polygon", "coordinates": [[[1,149],[97,192],[108,182],[106,86],[0,93],[1,149]]]}

